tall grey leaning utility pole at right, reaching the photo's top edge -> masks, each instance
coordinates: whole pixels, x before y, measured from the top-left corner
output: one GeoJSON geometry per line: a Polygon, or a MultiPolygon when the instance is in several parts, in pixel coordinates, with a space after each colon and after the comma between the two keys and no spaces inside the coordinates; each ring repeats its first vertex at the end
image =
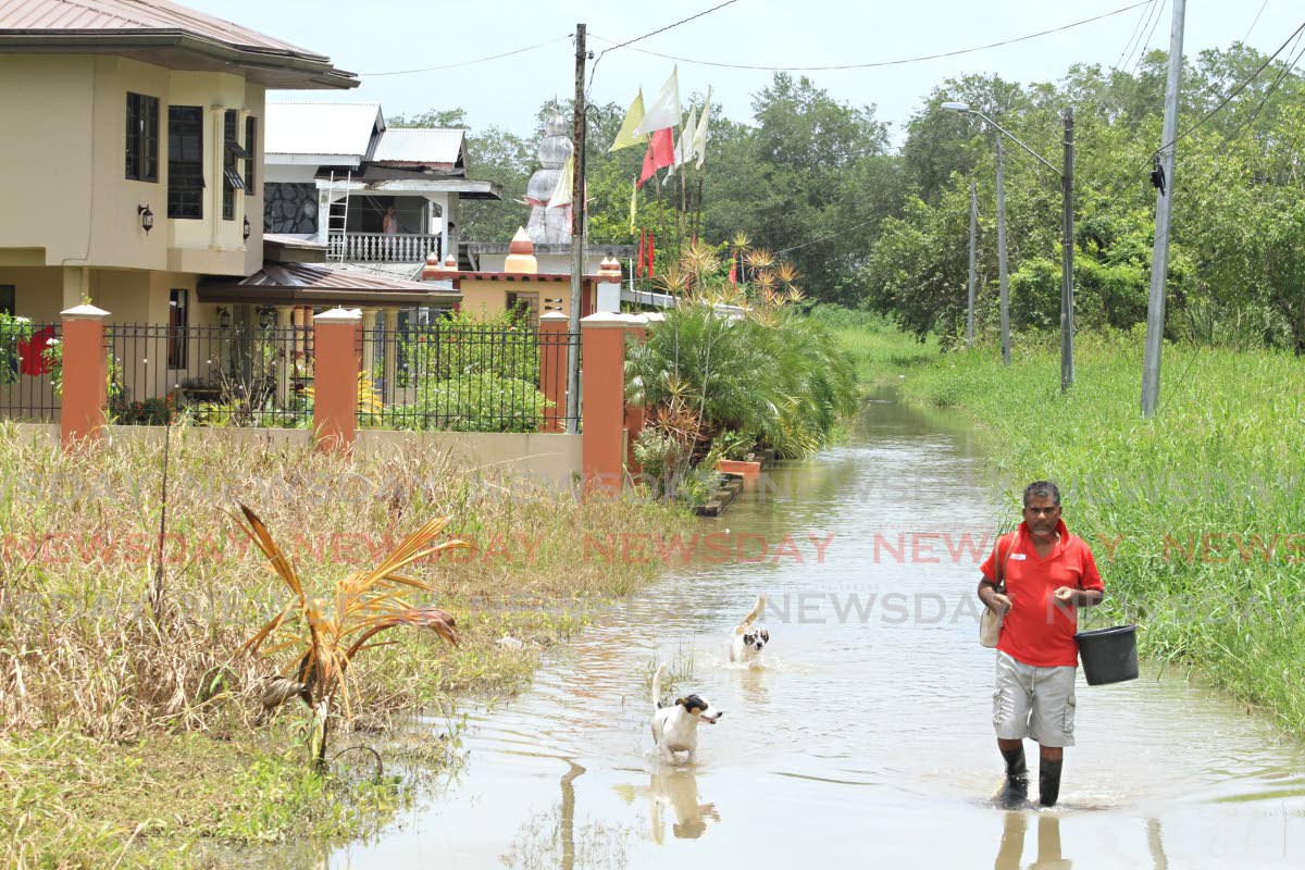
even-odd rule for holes
{"type": "Polygon", "coordinates": [[[1155,413],[1160,398],[1160,352],[1164,346],[1165,278],[1169,271],[1169,226],[1173,213],[1173,158],[1178,136],[1178,86],[1182,80],[1185,0],[1173,0],[1169,31],[1169,80],[1164,86],[1164,130],[1160,133],[1159,192],[1155,198],[1155,247],[1151,252],[1151,296],[1146,309],[1146,353],[1142,361],[1142,416],[1155,413]]]}

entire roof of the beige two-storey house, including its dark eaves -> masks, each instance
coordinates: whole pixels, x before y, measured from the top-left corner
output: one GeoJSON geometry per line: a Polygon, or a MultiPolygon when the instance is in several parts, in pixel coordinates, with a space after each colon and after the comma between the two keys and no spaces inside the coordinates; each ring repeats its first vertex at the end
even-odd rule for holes
{"type": "Polygon", "coordinates": [[[305,78],[315,76],[318,86],[358,83],[352,73],[331,68],[325,55],[168,0],[0,0],[0,50],[54,44],[95,51],[119,43],[141,50],[176,47],[179,39],[191,40],[188,47],[201,53],[207,46],[253,53],[262,63],[269,55],[279,57],[299,74],[311,74],[305,78]]]}

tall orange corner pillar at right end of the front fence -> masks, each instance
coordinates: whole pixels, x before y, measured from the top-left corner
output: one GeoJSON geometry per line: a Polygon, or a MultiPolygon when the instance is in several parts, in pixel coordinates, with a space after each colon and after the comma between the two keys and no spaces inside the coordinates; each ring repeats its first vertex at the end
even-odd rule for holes
{"type": "Polygon", "coordinates": [[[586,488],[620,492],[625,480],[625,314],[590,314],[581,322],[585,355],[585,429],[581,451],[586,488]]]}

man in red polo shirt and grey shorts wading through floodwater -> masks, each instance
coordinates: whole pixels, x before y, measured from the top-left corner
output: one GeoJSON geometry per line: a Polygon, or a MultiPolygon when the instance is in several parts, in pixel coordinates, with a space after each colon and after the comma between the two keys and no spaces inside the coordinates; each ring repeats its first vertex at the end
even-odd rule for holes
{"type": "Polygon", "coordinates": [[[992,724],[1006,760],[998,800],[1028,798],[1024,737],[1040,746],[1037,800],[1060,797],[1065,747],[1074,745],[1074,678],[1078,672],[1078,608],[1105,593],[1087,543],[1061,519],[1060,489],[1039,480],[1024,488],[1024,522],[1002,535],[980,567],[979,600],[1002,616],[992,724]],[[997,591],[1000,579],[1005,593],[997,591]]]}

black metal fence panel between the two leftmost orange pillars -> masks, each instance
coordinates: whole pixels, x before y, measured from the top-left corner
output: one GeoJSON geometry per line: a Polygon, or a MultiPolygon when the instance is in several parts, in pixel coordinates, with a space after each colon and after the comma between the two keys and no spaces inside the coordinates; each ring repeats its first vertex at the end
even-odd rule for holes
{"type": "Polygon", "coordinates": [[[112,323],[104,337],[111,423],[312,425],[311,327],[112,323]]]}

